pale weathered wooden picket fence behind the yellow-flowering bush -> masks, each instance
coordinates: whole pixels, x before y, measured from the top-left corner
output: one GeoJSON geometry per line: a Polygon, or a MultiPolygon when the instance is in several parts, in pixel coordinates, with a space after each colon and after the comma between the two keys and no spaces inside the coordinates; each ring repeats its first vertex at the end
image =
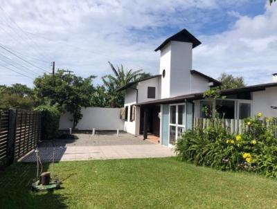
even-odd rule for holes
{"type": "MultiPolygon", "coordinates": [[[[274,125],[275,135],[277,136],[277,121],[276,119],[271,122],[264,122],[265,126],[274,125]]],[[[228,134],[242,134],[244,130],[249,129],[249,126],[244,124],[244,120],[240,119],[214,119],[214,118],[194,118],[193,127],[206,129],[208,126],[221,125],[224,127],[228,134]]]]}

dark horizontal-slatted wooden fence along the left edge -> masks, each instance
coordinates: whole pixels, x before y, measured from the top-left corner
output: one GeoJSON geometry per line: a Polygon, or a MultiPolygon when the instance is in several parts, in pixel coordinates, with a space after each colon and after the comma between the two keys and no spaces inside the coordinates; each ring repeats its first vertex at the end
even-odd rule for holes
{"type": "Polygon", "coordinates": [[[42,113],[0,109],[0,167],[17,161],[37,146],[42,113]]]}

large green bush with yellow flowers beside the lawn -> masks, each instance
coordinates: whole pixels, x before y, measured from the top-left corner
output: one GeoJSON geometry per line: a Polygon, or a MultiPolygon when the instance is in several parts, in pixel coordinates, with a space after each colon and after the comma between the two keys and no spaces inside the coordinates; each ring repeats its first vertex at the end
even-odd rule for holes
{"type": "Polygon", "coordinates": [[[221,119],[206,129],[188,130],[179,138],[175,152],[182,161],[220,170],[247,170],[277,176],[276,118],[262,113],[244,120],[243,134],[228,134],[221,119]]]}

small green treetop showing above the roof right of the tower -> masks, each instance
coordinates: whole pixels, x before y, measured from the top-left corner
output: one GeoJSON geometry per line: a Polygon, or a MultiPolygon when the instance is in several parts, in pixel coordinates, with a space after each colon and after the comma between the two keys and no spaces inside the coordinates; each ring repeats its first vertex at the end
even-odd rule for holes
{"type": "Polygon", "coordinates": [[[235,89],[245,87],[244,79],[242,77],[233,77],[231,74],[222,73],[218,80],[222,82],[221,89],[235,89]]]}

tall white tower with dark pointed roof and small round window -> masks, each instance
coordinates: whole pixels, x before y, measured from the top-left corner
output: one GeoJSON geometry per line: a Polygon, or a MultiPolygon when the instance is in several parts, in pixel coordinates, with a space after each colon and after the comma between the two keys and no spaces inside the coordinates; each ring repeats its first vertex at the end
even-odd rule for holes
{"type": "Polygon", "coordinates": [[[161,98],[190,93],[190,71],[193,48],[201,42],[188,30],[181,30],[164,41],[155,51],[161,51],[161,98]]]}

